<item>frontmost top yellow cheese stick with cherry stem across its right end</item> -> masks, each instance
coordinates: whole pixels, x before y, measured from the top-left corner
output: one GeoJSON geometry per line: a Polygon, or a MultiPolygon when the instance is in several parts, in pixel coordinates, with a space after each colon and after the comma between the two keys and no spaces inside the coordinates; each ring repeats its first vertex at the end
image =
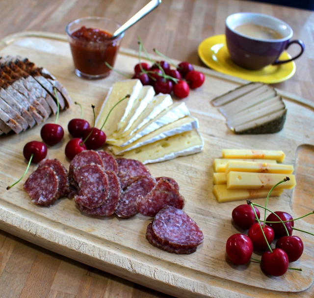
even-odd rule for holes
{"type": "MultiPolygon", "coordinates": [[[[285,174],[229,172],[227,174],[228,189],[271,189],[279,181],[286,178],[285,174]]],[[[289,181],[279,184],[276,189],[291,189],[295,186],[294,175],[288,175],[289,181]]]]}

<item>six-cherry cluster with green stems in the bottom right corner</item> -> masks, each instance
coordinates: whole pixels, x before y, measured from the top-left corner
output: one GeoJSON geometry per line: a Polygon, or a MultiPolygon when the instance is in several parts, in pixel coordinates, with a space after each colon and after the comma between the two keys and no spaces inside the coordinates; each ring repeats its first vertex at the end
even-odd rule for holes
{"type": "MultiPolygon", "coordinates": [[[[288,180],[286,177],[275,186],[288,180]]],[[[267,201],[274,187],[268,194],[265,207],[247,200],[247,204],[239,205],[233,210],[232,218],[235,224],[242,229],[248,229],[248,233],[247,235],[238,233],[229,237],[226,251],[236,265],[244,265],[252,259],[260,262],[266,273],[281,276],[288,269],[302,271],[289,267],[289,262],[298,260],[303,253],[303,242],[300,237],[292,236],[292,230],[299,230],[294,228],[294,221],[313,214],[314,211],[297,219],[293,219],[287,212],[272,212],[267,208],[267,201]],[[260,222],[261,213],[256,206],[265,209],[263,223],[260,222]],[[266,210],[271,212],[267,218],[266,210]],[[276,247],[270,248],[274,238],[278,239],[276,247]],[[263,252],[261,261],[252,258],[253,250],[263,252]]]]}

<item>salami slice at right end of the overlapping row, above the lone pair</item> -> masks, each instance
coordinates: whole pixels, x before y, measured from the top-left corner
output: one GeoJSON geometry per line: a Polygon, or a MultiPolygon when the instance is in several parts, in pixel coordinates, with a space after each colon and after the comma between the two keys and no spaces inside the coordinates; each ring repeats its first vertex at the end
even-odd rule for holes
{"type": "Polygon", "coordinates": [[[153,190],[145,197],[139,197],[136,201],[136,209],[139,213],[154,217],[165,206],[173,206],[182,209],[184,198],[168,180],[159,179],[153,190]]]}

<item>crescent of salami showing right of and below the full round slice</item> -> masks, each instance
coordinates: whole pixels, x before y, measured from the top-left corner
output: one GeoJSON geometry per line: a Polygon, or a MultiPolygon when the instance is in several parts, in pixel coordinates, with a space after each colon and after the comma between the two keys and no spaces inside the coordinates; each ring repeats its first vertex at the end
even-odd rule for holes
{"type": "Polygon", "coordinates": [[[114,214],[114,212],[118,208],[121,196],[119,178],[113,171],[105,171],[105,174],[107,174],[109,181],[108,199],[106,199],[105,203],[102,206],[94,209],[88,209],[84,206],[79,205],[79,209],[81,211],[90,215],[110,216],[114,214]]]}

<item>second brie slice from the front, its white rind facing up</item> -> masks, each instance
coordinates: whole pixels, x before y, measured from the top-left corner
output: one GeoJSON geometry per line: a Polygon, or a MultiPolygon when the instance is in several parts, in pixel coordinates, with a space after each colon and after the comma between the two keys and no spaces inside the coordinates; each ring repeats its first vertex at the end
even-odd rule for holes
{"type": "Polygon", "coordinates": [[[190,131],[193,129],[199,128],[198,120],[193,117],[184,117],[181,118],[173,123],[167,124],[159,129],[151,132],[148,135],[143,136],[142,138],[138,139],[136,142],[125,146],[125,147],[118,147],[118,146],[111,146],[110,149],[114,154],[122,154],[123,152],[130,151],[132,149],[136,149],[141,146],[145,146],[159,140],[165,139],[167,137],[171,137],[173,135],[183,133],[185,131],[190,131]]]}

